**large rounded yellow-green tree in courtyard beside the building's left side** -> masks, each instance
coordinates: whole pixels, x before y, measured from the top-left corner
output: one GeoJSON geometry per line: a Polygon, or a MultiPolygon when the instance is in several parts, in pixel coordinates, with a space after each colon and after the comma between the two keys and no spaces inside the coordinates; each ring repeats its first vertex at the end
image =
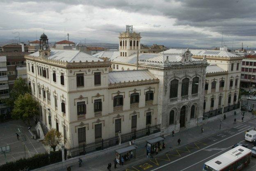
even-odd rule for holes
{"type": "Polygon", "coordinates": [[[11,117],[13,119],[27,120],[30,125],[30,119],[39,114],[39,103],[34,100],[30,93],[20,94],[14,102],[14,109],[11,117]]]}

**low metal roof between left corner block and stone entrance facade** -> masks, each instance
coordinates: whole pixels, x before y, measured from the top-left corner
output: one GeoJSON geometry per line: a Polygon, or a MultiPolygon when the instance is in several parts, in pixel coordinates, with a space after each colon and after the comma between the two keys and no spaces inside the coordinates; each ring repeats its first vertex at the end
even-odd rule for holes
{"type": "Polygon", "coordinates": [[[108,73],[108,82],[111,84],[119,82],[133,82],[141,80],[156,79],[148,70],[118,71],[108,73]]]}

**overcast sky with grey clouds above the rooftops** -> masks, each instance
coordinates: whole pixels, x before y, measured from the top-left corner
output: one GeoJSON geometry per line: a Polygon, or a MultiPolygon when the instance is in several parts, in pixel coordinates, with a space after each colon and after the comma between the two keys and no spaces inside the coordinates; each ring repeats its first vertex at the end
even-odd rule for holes
{"type": "Polygon", "coordinates": [[[256,0],[0,0],[0,39],[118,43],[133,25],[142,43],[256,47],[256,0]],[[223,44],[224,44],[223,43],[223,44]]]}

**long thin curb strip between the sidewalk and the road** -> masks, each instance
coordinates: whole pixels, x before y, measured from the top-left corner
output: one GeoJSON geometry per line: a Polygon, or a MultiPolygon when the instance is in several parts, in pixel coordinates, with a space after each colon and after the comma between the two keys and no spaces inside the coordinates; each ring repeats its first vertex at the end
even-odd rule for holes
{"type": "MultiPolygon", "coordinates": [[[[256,118],[249,119],[248,121],[242,122],[242,123],[237,124],[237,125],[242,125],[243,123],[247,123],[247,122],[252,121],[252,120],[254,120],[254,119],[256,119],[256,118]]],[[[235,125],[235,126],[237,126],[237,125],[235,125]]],[[[192,144],[192,143],[194,143],[194,142],[200,141],[201,139],[206,139],[206,138],[211,137],[211,136],[213,136],[213,135],[215,135],[215,134],[218,134],[219,132],[223,132],[223,131],[225,131],[225,130],[229,130],[229,129],[232,129],[232,128],[234,128],[234,126],[231,127],[231,128],[226,128],[226,129],[224,129],[224,130],[215,132],[215,133],[213,133],[213,134],[211,134],[211,135],[208,135],[208,136],[206,136],[206,137],[197,139],[196,141],[192,141],[192,142],[190,142],[189,144],[192,144]]],[[[188,145],[188,144],[184,144],[183,146],[179,146],[179,147],[173,148],[173,149],[171,149],[171,150],[169,150],[169,151],[167,151],[167,152],[164,152],[164,153],[169,153],[170,151],[174,151],[174,150],[176,150],[176,149],[178,149],[178,148],[181,148],[181,147],[184,147],[184,146],[187,146],[187,145],[188,145]]],[[[155,155],[154,157],[160,156],[160,155],[162,155],[162,154],[164,154],[164,153],[155,155]]],[[[146,160],[149,160],[149,158],[138,160],[138,161],[136,161],[135,163],[131,164],[130,166],[134,166],[134,165],[139,164],[140,162],[143,162],[143,161],[146,161],[146,160]]],[[[118,169],[117,171],[124,170],[124,169],[126,169],[126,168],[128,168],[128,167],[130,167],[130,166],[127,166],[127,167],[125,167],[125,168],[123,168],[123,169],[118,169]]]]}

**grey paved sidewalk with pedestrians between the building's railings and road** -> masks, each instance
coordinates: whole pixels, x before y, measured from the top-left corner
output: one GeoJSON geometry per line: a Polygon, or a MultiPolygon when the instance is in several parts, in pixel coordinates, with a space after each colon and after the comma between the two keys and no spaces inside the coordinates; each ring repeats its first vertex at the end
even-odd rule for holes
{"type": "MultiPolygon", "coordinates": [[[[194,141],[197,141],[198,139],[215,134],[219,131],[223,131],[223,130],[232,128],[234,125],[238,125],[238,124],[242,123],[241,113],[237,113],[236,116],[233,116],[233,115],[227,116],[226,120],[223,120],[223,118],[221,118],[221,117],[222,117],[222,115],[219,115],[219,119],[204,124],[203,125],[203,129],[204,129],[203,133],[201,133],[201,126],[197,126],[194,128],[190,128],[188,130],[184,130],[182,132],[177,132],[174,135],[174,137],[172,137],[172,135],[166,136],[166,140],[165,140],[166,148],[165,148],[165,150],[162,150],[158,154],[166,153],[170,150],[173,150],[174,148],[177,148],[178,147],[178,143],[177,143],[178,138],[181,139],[181,146],[183,146],[185,144],[190,144],[194,141]],[[233,124],[234,117],[236,118],[236,124],[233,124]],[[221,124],[221,129],[219,130],[220,119],[222,119],[222,124],[221,124]]],[[[254,119],[251,116],[251,112],[247,112],[245,114],[244,121],[249,121],[251,119],[254,119]]],[[[143,141],[139,144],[137,144],[135,141],[135,145],[138,146],[138,149],[136,150],[136,159],[133,158],[130,161],[125,162],[123,166],[117,165],[117,169],[114,169],[113,160],[115,158],[115,152],[112,151],[110,153],[106,153],[104,155],[97,156],[92,159],[83,161],[82,167],[78,167],[78,161],[77,161],[76,163],[73,163],[70,165],[71,171],[85,171],[85,170],[86,171],[107,171],[108,163],[112,164],[111,169],[113,171],[124,169],[130,165],[142,162],[143,160],[147,159],[145,144],[146,144],[146,141],[143,141]]],[[[63,166],[63,169],[58,169],[57,171],[66,171],[66,166],[63,166]]]]}

